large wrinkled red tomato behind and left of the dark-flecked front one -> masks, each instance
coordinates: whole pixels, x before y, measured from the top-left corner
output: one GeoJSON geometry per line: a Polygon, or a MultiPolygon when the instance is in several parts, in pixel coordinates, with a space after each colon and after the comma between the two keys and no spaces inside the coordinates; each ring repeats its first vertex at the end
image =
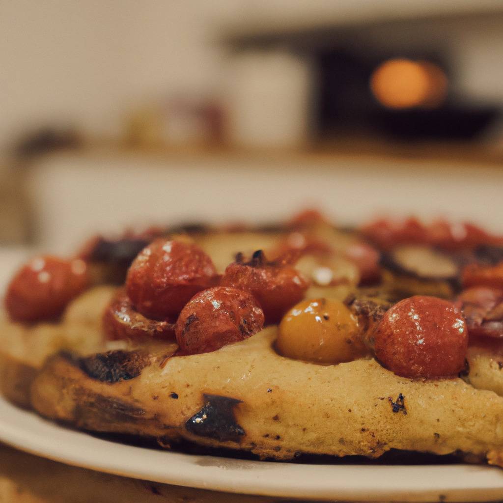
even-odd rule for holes
{"type": "Polygon", "coordinates": [[[126,289],[134,308],[157,320],[174,320],[197,292],[217,280],[211,259],[196,244],[159,238],[131,264],[126,289]]]}

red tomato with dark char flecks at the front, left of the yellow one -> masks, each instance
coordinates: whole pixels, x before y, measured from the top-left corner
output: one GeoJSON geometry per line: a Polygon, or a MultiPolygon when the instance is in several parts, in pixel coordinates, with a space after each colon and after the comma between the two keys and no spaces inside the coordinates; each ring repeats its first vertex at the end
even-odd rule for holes
{"type": "Polygon", "coordinates": [[[175,332],[183,355],[209,353],[253,336],[264,313],[248,292],[214,287],[195,295],[182,309],[175,332]]]}

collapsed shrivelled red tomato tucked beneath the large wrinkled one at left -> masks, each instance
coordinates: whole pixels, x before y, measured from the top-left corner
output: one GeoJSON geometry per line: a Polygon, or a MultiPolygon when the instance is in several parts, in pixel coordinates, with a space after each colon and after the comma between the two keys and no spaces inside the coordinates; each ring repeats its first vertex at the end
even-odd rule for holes
{"type": "Polygon", "coordinates": [[[145,318],[131,305],[124,290],[112,299],[103,314],[103,328],[111,341],[118,339],[174,340],[175,325],[169,321],[145,318]]]}

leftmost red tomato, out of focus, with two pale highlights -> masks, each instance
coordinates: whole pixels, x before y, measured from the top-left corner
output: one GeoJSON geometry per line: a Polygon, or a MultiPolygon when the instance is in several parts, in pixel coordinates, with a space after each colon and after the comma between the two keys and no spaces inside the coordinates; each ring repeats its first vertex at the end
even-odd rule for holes
{"type": "Polygon", "coordinates": [[[5,306],[13,321],[53,320],[87,285],[87,266],[82,260],[37,257],[12,279],[5,306]]]}

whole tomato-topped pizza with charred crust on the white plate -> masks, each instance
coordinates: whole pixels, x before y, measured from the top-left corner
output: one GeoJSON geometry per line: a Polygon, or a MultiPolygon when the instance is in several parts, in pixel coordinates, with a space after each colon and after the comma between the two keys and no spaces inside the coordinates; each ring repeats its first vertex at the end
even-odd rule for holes
{"type": "Polygon", "coordinates": [[[310,210],[93,238],[21,268],[1,326],[5,396],[89,432],[503,464],[503,238],[472,224],[310,210]]]}

